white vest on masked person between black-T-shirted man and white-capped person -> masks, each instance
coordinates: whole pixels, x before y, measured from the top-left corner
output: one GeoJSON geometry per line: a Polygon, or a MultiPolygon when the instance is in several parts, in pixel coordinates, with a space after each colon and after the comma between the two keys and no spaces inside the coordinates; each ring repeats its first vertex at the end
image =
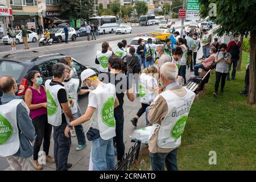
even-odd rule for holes
{"type": "Polygon", "coordinates": [[[71,78],[71,80],[65,82],[63,81],[62,84],[64,85],[65,89],[68,92],[68,96],[72,98],[74,101],[74,106],[71,107],[72,114],[77,113],[77,89],[79,88],[79,79],[71,78]]]}

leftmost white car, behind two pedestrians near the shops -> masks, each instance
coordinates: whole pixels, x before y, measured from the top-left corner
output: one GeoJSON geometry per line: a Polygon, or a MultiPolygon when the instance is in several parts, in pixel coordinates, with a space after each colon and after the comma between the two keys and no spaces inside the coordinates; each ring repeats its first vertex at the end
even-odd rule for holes
{"type": "MultiPolygon", "coordinates": [[[[38,40],[38,34],[36,34],[35,32],[32,32],[30,30],[28,30],[27,32],[28,32],[27,42],[36,42],[38,40]]],[[[16,34],[16,44],[23,43],[22,31],[17,30],[17,31],[15,31],[15,34],[16,34]]],[[[9,36],[8,35],[4,36],[2,39],[2,42],[6,45],[10,44],[11,41],[9,39],[9,36]]]]}

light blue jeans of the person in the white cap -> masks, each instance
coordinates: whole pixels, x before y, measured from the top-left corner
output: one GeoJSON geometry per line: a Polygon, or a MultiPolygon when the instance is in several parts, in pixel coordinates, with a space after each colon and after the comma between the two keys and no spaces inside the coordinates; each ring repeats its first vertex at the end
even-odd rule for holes
{"type": "Polygon", "coordinates": [[[115,168],[113,138],[101,137],[92,141],[92,162],[94,171],[109,171],[115,168]]]}

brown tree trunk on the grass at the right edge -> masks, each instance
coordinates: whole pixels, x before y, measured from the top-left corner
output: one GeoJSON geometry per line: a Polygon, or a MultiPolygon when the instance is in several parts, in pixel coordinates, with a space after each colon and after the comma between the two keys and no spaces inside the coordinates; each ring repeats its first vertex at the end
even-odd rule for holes
{"type": "Polygon", "coordinates": [[[250,78],[249,78],[249,104],[256,100],[256,31],[251,32],[250,37],[250,78]]]}

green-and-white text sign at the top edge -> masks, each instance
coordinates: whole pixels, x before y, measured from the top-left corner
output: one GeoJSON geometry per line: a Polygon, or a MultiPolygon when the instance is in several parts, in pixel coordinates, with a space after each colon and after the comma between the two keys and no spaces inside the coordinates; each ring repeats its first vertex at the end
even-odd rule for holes
{"type": "Polygon", "coordinates": [[[187,0],[186,19],[199,20],[200,2],[199,0],[187,0]]]}

